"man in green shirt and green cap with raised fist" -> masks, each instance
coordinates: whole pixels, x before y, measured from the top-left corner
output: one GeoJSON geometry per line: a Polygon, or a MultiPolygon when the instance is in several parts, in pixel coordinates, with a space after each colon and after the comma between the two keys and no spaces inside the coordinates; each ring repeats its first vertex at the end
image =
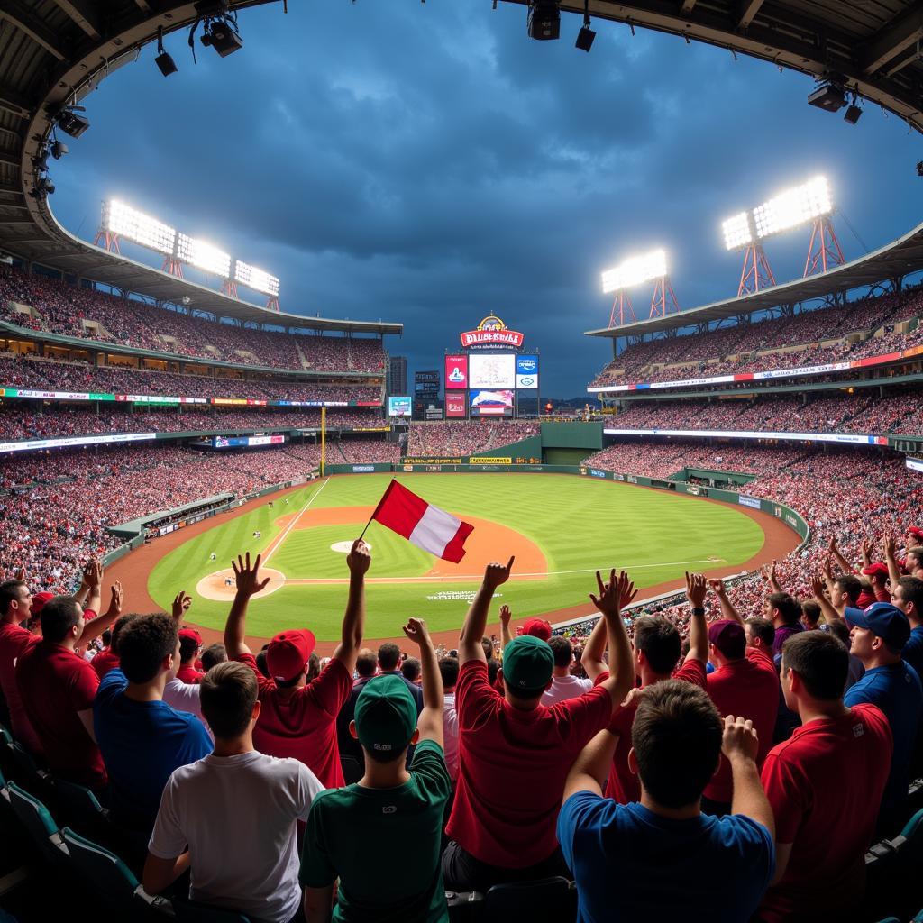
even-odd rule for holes
{"type": "Polygon", "coordinates": [[[400,674],[370,679],[350,733],[366,774],[321,792],[307,818],[301,883],[307,923],[448,923],[439,852],[451,781],[442,751],[442,677],[420,618],[404,634],[420,648],[423,711],[400,674]],[[415,744],[408,771],[407,747],[415,744]],[[331,909],[333,884],[340,879],[331,909]]]}

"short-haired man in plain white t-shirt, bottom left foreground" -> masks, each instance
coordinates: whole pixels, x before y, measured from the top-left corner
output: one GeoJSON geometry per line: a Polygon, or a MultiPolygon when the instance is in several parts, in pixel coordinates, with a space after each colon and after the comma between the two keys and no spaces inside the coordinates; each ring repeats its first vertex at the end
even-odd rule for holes
{"type": "Polygon", "coordinates": [[[259,701],[248,666],[214,666],[199,688],[215,749],[163,789],[144,890],[162,892],[191,866],[192,900],[289,923],[301,905],[296,821],[307,820],[323,785],[304,763],[253,749],[259,701]]]}

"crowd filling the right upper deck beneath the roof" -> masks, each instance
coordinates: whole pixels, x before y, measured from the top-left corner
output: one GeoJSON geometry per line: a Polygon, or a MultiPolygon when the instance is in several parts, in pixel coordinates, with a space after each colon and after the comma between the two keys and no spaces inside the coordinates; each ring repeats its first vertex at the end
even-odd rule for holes
{"type": "Polygon", "coordinates": [[[773,318],[696,335],[641,342],[612,360],[593,385],[642,381],[674,381],[713,375],[773,371],[860,359],[917,346],[923,330],[896,333],[891,328],[921,313],[918,288],[900,295],[870,297],[846,306],[805,311],[792,318],[773,318]],[[882,330],[880,337],[845,342],[847,334],[882,330]],[[818,341],[836,340],[821,346],[818,341]],[[804,344],[807,348],[790,350],[804,344]],[[761,350],[785,350],[753,355],[761,350]],[[733,357],[733,358],[732,358],[733,357]],[[689,365],[677,365],[689,364],[689,365]],[[655,367],[652,367],[655,366],[655,367]],[[662,368],[661,366],[674,366],[662,368]]]}

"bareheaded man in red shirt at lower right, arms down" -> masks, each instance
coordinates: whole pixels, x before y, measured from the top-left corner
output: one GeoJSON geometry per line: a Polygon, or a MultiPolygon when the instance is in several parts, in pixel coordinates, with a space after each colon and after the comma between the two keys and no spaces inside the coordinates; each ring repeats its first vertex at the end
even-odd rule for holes
{"type": "Polygon", "coordinates": [[[776,840],[764,923],[852,918],[862,902],[893,737],[876,706],[843,703],[848,669],[845,646],[826,631],[793,638],[782,653],[785,702],[801,726],[762,767],[776,840]]]}

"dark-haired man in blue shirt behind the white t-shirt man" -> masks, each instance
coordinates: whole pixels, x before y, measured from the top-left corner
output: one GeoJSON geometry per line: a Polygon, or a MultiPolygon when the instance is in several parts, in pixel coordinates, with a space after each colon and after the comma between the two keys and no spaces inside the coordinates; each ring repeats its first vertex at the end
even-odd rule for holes
{"type": "Polygon", "coordinates": [[[147,848],[163,786],[174,769],[212,750],[205,725],[164,701],[179,668],[174,619],[133,618],[119,635],[119,669],[103,677],[93,701],[93,728],[109,775],[113,820],[147,848]]]}

